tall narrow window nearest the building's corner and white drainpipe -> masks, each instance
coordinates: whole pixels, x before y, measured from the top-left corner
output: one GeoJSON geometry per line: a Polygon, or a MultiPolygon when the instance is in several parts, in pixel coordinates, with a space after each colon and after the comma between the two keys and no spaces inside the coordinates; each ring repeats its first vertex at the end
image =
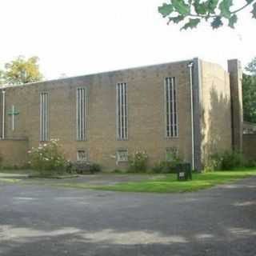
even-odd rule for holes
{"type": "Polygon", "coordinates": [[[177,90],[175,78],[166,78],[166,137],[178,137],[177,90]]]}

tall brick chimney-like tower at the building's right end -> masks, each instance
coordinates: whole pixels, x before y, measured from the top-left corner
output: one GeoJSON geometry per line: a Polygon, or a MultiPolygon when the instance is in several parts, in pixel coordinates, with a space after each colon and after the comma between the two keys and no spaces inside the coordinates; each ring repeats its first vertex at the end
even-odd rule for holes
{"type": "Polygon", "coordinates": [[[231,116],[232,116],[232,144],[233,150],[242,152],[242,67],[237,59],[228,61],[230,73],[231,116]]]}

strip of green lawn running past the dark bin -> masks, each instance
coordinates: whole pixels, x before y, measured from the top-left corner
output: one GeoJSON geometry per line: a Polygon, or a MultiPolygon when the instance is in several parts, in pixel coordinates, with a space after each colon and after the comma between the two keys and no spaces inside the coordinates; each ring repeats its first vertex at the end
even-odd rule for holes
{"type": "Polygon", "coordinates": [[[178,182],[175,174],[167,174],[166,178],[146,180],[142,182],[120,183],[111,186],[88,186],[86,184],[62,184],[69,187],[94,190],[110,190],[124,192],[180,193],[209,188],[218,184],[234,182],[238,179],[256,175],[256,169],[233,171],[215,171],[204,174],[193,174],[193,180],[178,182]]]}

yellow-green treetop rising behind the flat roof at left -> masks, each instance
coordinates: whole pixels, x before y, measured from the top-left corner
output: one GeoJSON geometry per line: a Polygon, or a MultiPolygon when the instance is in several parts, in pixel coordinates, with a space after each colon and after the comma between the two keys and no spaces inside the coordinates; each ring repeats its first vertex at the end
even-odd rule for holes
{"type": "Polygon", "coordinates": [[[0,70],[0,82],[2,80],[2,83],[10,85],[22,85],[41,81],[42,74],[39,70],[38,60],[39,58],[36,56],[28,59],[18,56],[14,61],[6,63],[5,70],[0,70]]]}

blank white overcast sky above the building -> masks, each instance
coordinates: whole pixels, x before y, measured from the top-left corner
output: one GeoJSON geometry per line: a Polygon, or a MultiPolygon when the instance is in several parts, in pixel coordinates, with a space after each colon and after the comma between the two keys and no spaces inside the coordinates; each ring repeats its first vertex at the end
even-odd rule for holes
{"type": "Polygon", "coordinates": [[[158,14],[164,0],[0,1],[0,66],[37,55],[46,79],[194,57],[226,68],[228,58],[246,64],[256,56],[249,10],[235,30],[205,24],[180,32],[158,14]]]}

